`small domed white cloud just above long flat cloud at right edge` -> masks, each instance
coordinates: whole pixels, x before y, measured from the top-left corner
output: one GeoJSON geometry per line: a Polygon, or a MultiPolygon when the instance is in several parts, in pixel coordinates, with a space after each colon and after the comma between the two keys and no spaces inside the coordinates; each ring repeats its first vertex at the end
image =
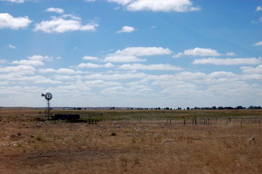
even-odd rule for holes
{"type": "Polygon", "coordinates": [[[194,48],[185,50],[183,53],[178,53],[173,56],[173,58],[178,58],[181,56],[220,56],[221,54],[217,50],[211,48],[194,48]]]}

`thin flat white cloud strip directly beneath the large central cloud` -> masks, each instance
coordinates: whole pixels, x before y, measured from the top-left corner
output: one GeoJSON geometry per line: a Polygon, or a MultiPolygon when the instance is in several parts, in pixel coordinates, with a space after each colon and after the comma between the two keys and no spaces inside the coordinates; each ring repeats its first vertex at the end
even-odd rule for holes
{"type": "Polygon", "coordinates": [[[142,64],[124,64],[119,66],[120,69],[124,70],[161,70],[161,71],[181,71],[183,70],[180,67],[176,67],[170,64],[151,64],[151,65],[142,65],[142,64]]]}

